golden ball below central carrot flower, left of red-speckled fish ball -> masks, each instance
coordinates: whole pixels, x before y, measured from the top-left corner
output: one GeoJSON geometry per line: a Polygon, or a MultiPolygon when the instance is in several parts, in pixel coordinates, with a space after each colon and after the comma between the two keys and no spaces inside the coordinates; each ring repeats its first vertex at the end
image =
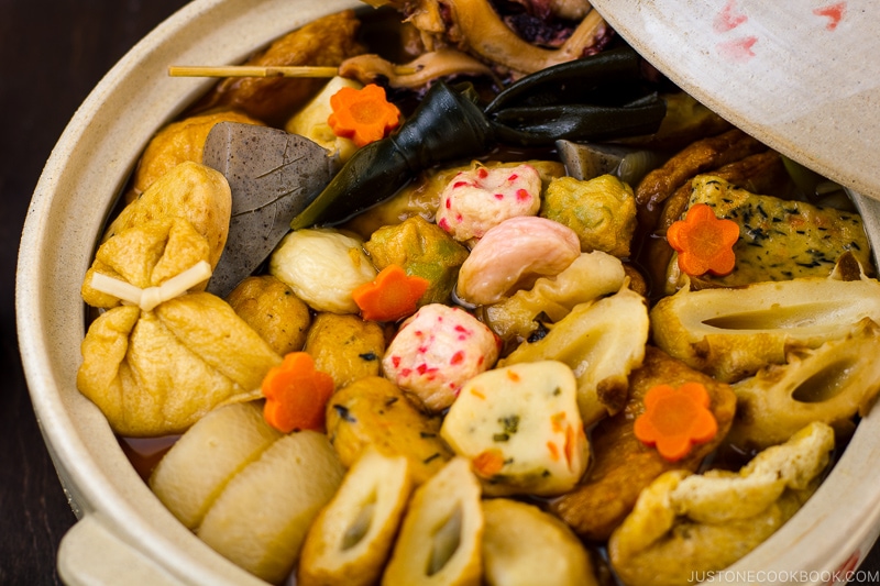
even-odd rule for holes
{"type": "Polygon", "coordinates": [[[385,353],[385,332],[358,316],[319,313],[306,339],[315,368],[333,377],[336,388],[366,376],[378,376],[385,353]]]}

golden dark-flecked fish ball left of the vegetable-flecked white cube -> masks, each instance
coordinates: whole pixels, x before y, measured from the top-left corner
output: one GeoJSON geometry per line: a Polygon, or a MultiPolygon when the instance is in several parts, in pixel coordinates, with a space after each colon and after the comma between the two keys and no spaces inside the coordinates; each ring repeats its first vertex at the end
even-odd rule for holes
{"type": "Polygon", "coordinates": [[[370,376],[343,387],[327,402],[327,434],[346,466],[370,445],[409,461],[421,484],[452,457],[440,439],[441,419],[419,411],[387,378],[370,376]]]}

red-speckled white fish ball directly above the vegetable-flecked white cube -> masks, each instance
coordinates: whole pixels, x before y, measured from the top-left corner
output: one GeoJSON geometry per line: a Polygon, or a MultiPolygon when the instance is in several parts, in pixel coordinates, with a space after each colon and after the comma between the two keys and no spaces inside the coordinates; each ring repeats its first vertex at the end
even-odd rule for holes
{"type": "Polygon", "coordinates": [[[433,412],[452,405],[462,385],[492,368],[499,339],[460,308],[431,303],[419,309],[392,340],[385,376],[433,412]]]}

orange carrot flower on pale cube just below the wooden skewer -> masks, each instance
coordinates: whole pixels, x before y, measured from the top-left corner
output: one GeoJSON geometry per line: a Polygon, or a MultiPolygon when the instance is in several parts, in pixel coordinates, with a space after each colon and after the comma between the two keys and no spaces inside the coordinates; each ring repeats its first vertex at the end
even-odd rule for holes
{"type": "Polygon", "coordinates": [[[337,136],[365,146],[384,139],[400,121],[400,110],[385,98],[385,90],[370,84],[363,89],[342,88],[330,97],[333,112],[327,123],[337,136]]]}

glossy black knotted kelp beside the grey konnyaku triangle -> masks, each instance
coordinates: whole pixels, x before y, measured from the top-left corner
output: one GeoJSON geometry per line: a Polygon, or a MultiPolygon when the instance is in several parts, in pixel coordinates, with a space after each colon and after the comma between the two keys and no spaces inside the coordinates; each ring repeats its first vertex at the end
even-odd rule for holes
{"type": "Polygon", "coordinates": [[[486,154],[498,142],[552,146],[654,132],[666,103],[629,48],[543,69],[517,81],[485,109],[442,81],[395,134],[358,151],[299,215],[294,230],[342,222],[389,197],[438,163],[486,154]]]}

